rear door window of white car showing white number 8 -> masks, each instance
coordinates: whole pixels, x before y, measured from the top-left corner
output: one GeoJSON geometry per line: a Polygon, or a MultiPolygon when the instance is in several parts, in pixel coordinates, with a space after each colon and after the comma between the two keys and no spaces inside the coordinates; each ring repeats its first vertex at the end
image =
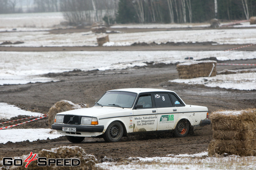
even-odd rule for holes
{"type": "Polygon", "coordinates": [[[156,107],[172,107],[173,104],[168,93],[154,93],[156,107]]]}

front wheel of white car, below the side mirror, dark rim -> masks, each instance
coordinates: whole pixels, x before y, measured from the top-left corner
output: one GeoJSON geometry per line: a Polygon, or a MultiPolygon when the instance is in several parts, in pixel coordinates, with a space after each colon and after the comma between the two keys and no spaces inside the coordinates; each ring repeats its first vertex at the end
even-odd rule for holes
{"type": "Polygon", "coordinates": [[[118,142],[123,137],[123,134],[124,128],[122,123],[114,121],[106,129],[103,138],[106,142],[118,142]]]}

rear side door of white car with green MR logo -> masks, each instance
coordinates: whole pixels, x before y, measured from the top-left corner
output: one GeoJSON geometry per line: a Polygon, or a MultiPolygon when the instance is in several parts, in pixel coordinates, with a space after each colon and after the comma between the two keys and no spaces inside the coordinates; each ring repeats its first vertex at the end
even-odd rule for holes
{"type": "Polygon", "coordinates": [[[156,92],[153,93],[155,106],[157,109],[157,130],[172,130],[178,119],[178,108],[174,106],[169,93],[156,92]]]}

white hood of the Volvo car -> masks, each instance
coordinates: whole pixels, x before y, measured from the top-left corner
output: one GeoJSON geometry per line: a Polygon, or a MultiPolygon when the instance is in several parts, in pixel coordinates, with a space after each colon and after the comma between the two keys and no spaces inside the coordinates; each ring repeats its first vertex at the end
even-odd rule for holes
{"type": "Polygon", "coordinates": [[[81,109],[74,109],[71,111],[61,112],[61,113],[58,113],[58,115],[77,115],[77,116],[96,117],[96,116],[104,115],[108,113],[123,112],[125,110],[130,110],[130,108],[94,106],[90,108],[81,108],[81,109]]]}

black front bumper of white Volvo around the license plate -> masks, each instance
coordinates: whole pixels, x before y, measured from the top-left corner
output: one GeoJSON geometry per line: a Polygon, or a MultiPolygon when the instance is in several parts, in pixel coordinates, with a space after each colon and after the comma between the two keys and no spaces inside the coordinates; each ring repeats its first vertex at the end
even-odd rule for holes
{"type": "Polygon", "coordinates": [[[62,131],[62,127],[67,128],[76,128],[76,132],[103,132],[104,126],[103,125],[73,125],[73,124],[59,124],[54,123],[52,124],[52,129],[57,131],[62,131]]]}

